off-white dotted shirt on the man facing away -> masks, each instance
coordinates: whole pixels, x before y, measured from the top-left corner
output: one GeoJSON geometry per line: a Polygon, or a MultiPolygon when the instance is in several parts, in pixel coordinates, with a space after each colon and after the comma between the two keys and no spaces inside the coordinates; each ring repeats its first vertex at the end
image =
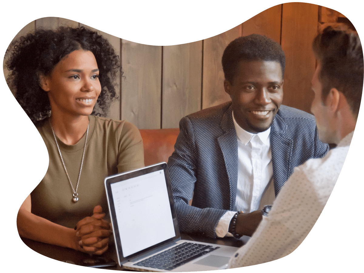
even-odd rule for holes
{"type": "Polygon", "coordinates": [[[253,237],[229,262],[229,268],[278,260],[292,253],[306,238],[323,211],[344,165],[354,131],[324,158],[296,167],[282,187],[272,210],[253,237]]]}

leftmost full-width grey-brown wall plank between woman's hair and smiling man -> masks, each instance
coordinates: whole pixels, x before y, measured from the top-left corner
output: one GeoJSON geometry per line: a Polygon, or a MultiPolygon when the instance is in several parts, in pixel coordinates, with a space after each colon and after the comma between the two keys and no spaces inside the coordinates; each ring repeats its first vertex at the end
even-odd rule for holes
{"type": "Polygon", "coordinates": [[[139,129],[161,128],[162,47],[122,39],[122,119],[139,129]]]}

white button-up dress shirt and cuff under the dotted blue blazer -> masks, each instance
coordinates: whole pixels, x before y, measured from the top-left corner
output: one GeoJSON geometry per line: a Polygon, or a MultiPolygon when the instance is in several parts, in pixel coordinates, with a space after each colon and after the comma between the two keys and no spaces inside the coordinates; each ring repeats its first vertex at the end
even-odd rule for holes
{"type": "MultiPolygon", "coordinates": [[[[235,210],[250,213],[272,205],[274,195],[270,127],[264,132],[252,134],[233,121],[238,140],[238,184],[235,210]]],[[[218,237],[228,233],[230,221],[236,211],[226,212],[215,232],[218,237]]]]}

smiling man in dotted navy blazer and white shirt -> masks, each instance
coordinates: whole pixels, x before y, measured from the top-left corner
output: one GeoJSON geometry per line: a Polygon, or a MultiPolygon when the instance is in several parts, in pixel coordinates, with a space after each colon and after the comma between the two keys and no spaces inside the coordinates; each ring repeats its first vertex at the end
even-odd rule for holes
{"type": "Polygon", "coordinates": [[[222,67],[232,101],[181,119],[168,166],[181,232],[239,238],[253,234],[260,210],[294,167],[323,157],[328,145],[312,115],[281,105],[285,55],[278,43],[239,37],[222,67]]]}

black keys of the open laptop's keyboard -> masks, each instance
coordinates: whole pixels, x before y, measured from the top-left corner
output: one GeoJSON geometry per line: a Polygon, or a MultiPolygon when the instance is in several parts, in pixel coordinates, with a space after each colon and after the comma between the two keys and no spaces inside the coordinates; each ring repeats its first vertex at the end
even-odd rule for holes
{"type": "Polygon", "coordinates": [[[205,255],[206,253],[214,251],[218,248],[219,247],[214,248],[210,245],[184,242],[134,265],[173,270],[178,266],[186,264],[187,262],[201,257],[202,255],[205,255]]]}

